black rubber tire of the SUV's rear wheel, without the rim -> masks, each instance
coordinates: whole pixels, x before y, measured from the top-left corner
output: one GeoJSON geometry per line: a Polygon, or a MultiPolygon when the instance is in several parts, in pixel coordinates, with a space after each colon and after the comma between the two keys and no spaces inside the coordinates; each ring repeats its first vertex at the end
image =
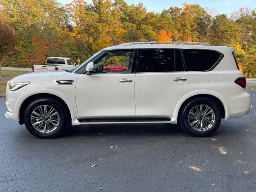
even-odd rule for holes
{"type": "Polygon", "coordinates": [[[221,112],[216,102],[212,101],[211,99],[205,97],[194,98],[182,105],[178,121],[180,123],[180,126],[186,133],[195,137],[207,137],[216,132],[216,130],[219,128],[221,122],[221,112]],[[209,106],[214,111],[215,122],[214,125],[209,130],[194,130],[189,124],[188,115],[190,113],[190,110],[192,110],[195,106],[198,105],[209,106]]]}

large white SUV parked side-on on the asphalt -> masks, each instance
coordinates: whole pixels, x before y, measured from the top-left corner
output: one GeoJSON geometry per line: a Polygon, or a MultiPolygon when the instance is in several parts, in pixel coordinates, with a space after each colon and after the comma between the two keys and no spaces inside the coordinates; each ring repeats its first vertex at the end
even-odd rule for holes
{"type": "Polygon", "coordinates": [[[70,125],[179,123],[209,136],[221,119],[252,108],[235,49],[192,42],[138,42],[105,48],[71,72],[10,80],[6,117],[39,138],[70,125]],[[124,71],[105,70],[118,64],[124,71]]]}

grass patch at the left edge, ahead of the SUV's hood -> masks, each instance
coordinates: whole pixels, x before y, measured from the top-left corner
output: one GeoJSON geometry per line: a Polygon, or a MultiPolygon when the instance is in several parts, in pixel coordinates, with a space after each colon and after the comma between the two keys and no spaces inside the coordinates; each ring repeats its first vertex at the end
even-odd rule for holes
{"type": "Polygon", "coordinates": [[[0,95],[6,94],[6,84],[12,78],[23,75],[26,73],[31,73],[29,71],[14,71],[14,70],[2,70],[2,81],[0,81],[0,95]]]}

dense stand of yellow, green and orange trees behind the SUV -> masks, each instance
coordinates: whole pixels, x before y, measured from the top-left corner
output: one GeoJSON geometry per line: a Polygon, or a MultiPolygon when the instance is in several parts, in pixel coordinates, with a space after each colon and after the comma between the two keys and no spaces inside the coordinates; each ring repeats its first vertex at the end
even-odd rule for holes
{"type": "Polygon", "coordinates": [[[256,77],[256,10],[216,14],[198,4],[149,12],[126,0],[0,0],[0,22],[15,30],[15,54],[2,64],[31,67],[49,56],[86,60],[124,42],[200,41],[236,47],[241,70],[256,77]]]}

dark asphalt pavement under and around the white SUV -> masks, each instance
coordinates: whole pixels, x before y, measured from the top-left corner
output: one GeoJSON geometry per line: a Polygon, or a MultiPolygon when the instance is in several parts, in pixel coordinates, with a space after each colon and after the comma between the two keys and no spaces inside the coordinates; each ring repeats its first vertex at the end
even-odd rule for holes
{"type": "Polygon", "coordinates": [[[255,192],[256,92],[248,92],[250,114],[207,138],[170,124],[108,124],[38,139],[5,118],[0,99],[0,191],[255,192]]]}

